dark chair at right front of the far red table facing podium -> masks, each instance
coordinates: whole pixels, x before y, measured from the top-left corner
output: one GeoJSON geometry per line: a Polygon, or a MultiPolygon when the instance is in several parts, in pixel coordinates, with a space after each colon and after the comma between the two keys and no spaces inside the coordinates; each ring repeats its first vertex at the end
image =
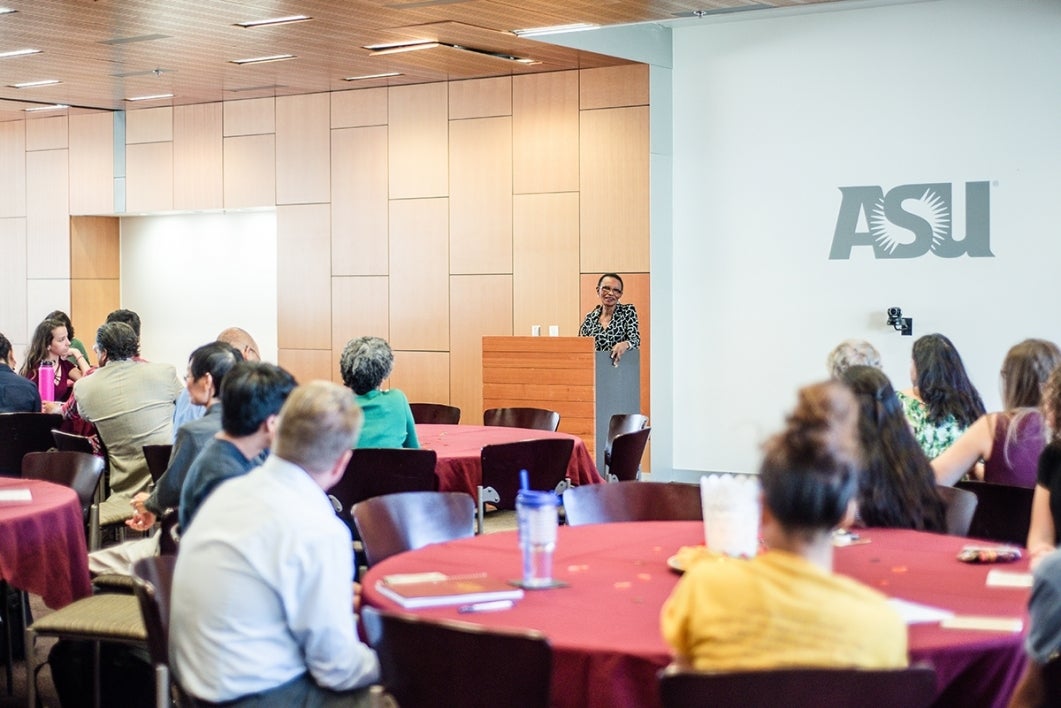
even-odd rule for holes
{"type": "Polygon", "coordinates": [[[483,479],[477,487],[476,533],[483,533],[486,505],[515,511],[520,490],[520,471],[527,470],[532,489],[563,494],[571,486],[568,463],[575,449],[570,437],[544,437],[487,445],[480,453],[483,479]]]}

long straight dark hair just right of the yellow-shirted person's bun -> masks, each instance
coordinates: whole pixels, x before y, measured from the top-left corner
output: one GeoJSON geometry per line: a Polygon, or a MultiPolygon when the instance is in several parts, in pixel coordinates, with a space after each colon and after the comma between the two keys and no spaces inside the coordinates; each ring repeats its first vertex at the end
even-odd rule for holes
{"type": "Polygon", "coordinates": [[[852,366],[842,380],[858,399],[858,437],[865,465],[858,513],[869,526],[944,531],[943,500],[936,477],[903,415],[884,372],[852,366]]]}

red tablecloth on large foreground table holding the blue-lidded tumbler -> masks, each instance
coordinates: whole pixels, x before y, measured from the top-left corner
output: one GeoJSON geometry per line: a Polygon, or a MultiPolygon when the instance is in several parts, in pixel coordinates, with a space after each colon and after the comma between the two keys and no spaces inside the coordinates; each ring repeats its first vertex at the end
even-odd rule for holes
{"type": "MultiPolygon", "coordinates": [[[[870,543],[836,550],[839,572],[887,594],[959,614],[1026,618],[1028,591],[985,587],[992,567],[955,559],[967,539],[908,531],[867,530],[870,543]]],[[[487,626],[535,628],[553,645],[554,706],[659,706],[656,672],[671,660],[660,637],[659,611],[677,582],[666,558],[703,542],[699,522],[561,526],[554,575],[568,588],[527,592],[510,610],[458,615],[455,607],[418,610],[487,626]]],[[[1024,570],[1026,564],[1002,566],[1024,570]]],[[[376,590],[388,573],[437,570],[520,574],[515,533],[431,546],[384,560],[368,571],[364,600],[397,606],[376,590]]],[[[910,658],[935,664],[937,705],[1004,706],[1024,667],[1022,634],[947,631],[915,625],[910,658]]]]}

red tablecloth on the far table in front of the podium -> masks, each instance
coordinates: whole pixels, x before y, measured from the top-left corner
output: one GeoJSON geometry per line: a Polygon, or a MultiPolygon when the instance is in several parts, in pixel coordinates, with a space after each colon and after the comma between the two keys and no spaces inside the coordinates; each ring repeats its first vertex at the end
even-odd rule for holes
{"type": "Polygon", "coordinates": [[[420,439],[420,447],[434,450],[438,455],[435,471],[438,473],[438,485],[442,491],[466,491],[472,497],[477,495],[479,483],[483,481],[480,452],[484,446],[542,437],[563,437],[575,442],[575,447],[571,451],[571,462],[568,463],[568,479],[572,484],[597,484],[604,481],[586,449],[586,444],[580,437],[568,433],[500,426],[424,424],[416,427],[416,435],[420,439]]]}

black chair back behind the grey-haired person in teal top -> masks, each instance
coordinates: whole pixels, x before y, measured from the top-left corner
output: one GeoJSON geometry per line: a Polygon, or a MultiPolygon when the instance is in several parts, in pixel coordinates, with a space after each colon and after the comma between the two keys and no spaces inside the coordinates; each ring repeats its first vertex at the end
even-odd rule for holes
{"type": "Polygon", "coordinates": [[[407,448],[358,448],[346,472],[328,490],[335,513],[351,524],[350,510],[358,502],[399,491],[438,491],[434,450],[407,448]]]}

